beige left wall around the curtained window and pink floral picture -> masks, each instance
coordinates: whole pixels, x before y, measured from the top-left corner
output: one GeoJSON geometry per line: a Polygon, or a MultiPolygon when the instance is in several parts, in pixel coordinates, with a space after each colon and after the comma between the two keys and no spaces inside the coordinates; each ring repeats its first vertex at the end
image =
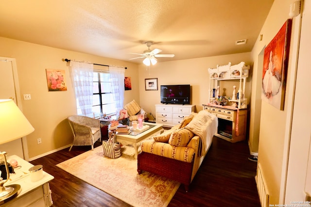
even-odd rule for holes
{"type": "Polygon", "coordinates": [[[31,94],[31,100],[23,100],[21,97],[23,112],[35,128],[35,131],[27,136],[30,159],[72,143],[71,129],[66,118],[76,114],[76,103],[69,67],[62,61],[63,58],[126,66],[128,69],[125,76],[132,78],[133,90],[125,92],[124,102],[129,102],[132,98],[139,101],[137,64],[2,37],[0,45],[0,56],[16,58],[21,96],[31,94]],[[68,90],[48,92],[46,69],[65,70],[68,90]],[[42,139],[40,145],[37,144],[37,138],[42,139]]]}

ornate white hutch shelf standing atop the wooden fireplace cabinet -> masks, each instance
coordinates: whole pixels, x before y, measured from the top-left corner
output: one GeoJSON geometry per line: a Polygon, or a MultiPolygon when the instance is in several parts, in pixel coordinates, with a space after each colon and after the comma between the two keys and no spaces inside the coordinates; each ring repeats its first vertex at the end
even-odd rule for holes
{"type": "Polygon", "coordinates": [[[245,82],[248,77],[250,66],[245,65],[244,62],[240,64],[231,65],[231,63],[226,65],[217,65],[216,68],[208,68],[209,73],[209,102],[212,103],[216,97],[217,86],[219,86],[219,81],[222,80],[240,80],[240,85],[238,90],[238,99],[229,99],[233,106],[237,106],[239,109],[247,108],[247,98],[245,98],[245,82]],[[243,83],[243,84],[242,84],[243,83]],[[213,89],[215,89],[215,97],[213,97],[213,89]]]}

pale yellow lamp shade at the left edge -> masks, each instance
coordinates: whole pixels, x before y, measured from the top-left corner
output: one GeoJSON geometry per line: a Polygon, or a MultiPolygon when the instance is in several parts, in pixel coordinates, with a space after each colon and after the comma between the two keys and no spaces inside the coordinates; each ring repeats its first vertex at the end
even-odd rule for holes
{"type": "Polygon", "coordinates": [[[35,129],[11,99],[0,99],[0,144],[33,132],[35,129]]]}

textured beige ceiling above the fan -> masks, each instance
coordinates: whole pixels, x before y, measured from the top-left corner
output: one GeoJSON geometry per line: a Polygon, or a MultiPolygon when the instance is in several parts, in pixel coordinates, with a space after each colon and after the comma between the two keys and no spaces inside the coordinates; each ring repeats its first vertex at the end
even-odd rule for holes
{"type": "Polygon", "coordinates": [[[163,50],[160,54],[175,54],[159,62],[217,56],[251,51],[272,3],[8,0],[0,6],[0,36],[125,61],[138,57],[129,52],[147,49],[148,40],[154,42],[151,49],[163,50]],[[235,45],[242,39],[245,45],[235,45]]]}

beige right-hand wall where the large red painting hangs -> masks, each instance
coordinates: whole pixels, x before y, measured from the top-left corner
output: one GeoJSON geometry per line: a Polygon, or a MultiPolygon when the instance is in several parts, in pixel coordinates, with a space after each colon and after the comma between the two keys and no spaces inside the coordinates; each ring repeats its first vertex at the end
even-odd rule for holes
{"type": "MultiPolygon", "coordinates": [[[[261,52],[262,49],[273,39],[286,19],[289,18],[290,4],[294,0],[275,0],[269,15],[261,29],[263,35],[262,41],[257,41],[252,50],[252,59],[254,60],[253,80],[261,81],[260,71],[262,71],[261,52]],[[257,74],[257,75],[256,75],[257,74]]],[[[259,159],[258,163],[262,166],[262,174],[266,179],[268,191],[270,194],[270,204],[283,203],[284,185],[286,185],[286,167],[288,159],[290,126],[292,121],[293,94],[295,82],[295,63],[297,55],[298,24],[293,21],[293,31],[291,38],[291,51],[288,66],[288,77],[286,80],[285,106],[284,111],[280,111],[261,101],[260,112],[260,133],[253,134],[259,136],[259,159]]],[[[258,99],[261,90],[256,90],[261,84],[252,88],[251,99],[258,99]],[[254,92],[254,93],[253,93],[254,92]]],[[[254,85],[253,85],[254,86],[254,85]]],[[[253,102],[254,103],[254,102],[253,102]]],[[[254,109],[260,109],[251,105],[251,111],[255,114],[254,109]]],[[[258,112],[258,111],[256,111],[258,112]]],[[[251,120],[250,125],[254,125],[256,120],[251,120]]],[[[256,130],[254,130],[256,131],[256,130]]]]}

